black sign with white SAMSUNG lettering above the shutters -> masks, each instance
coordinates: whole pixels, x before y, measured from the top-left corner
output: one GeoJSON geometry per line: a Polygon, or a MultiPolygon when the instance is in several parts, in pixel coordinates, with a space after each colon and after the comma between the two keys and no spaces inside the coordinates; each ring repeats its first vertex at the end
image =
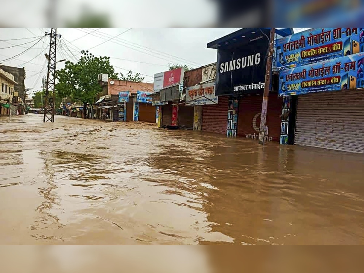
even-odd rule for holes
{"type": "Polygon", "coordinates": [[[232,49],[217,52],[215,95],[259,94],[264,91],[266,37],[232,49]]]}

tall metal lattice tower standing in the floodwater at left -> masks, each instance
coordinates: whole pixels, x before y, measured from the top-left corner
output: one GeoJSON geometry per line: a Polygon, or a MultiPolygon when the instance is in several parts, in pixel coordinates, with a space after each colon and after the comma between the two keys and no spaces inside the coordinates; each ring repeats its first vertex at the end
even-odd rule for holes
{"type": "Polygon", "coordinates": [[[57,28],[51,28],[51,32],[46,32],[46,35],[51,37],[49,44],[49,54],[45,54],[48,59],[48,72],[46,88],[44,90],[43,109],[44,118],[43,122],[51,121],[54,122],[55,114],[55,73],[56,73],[56,42],[57,37],[61,35],[57,34],[57,28]]]}

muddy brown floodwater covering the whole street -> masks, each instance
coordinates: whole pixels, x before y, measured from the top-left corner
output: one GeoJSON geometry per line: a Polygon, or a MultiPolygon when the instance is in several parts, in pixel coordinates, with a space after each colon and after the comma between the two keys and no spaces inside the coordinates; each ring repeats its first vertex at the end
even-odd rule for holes
{"type": "Polygon", "coordinates": [[[0,118],[1,244],[364,244],[364,156],[0,118]]]}

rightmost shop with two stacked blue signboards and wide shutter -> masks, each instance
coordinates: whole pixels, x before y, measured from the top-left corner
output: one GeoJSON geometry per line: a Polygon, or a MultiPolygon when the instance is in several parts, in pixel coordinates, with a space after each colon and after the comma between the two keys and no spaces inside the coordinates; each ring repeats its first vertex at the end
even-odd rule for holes
{"type": "Polygon", "coordinates": [[[281,144],[364,153],[362,51],[363,28],[310,29],[277,41],[281,144]]]}

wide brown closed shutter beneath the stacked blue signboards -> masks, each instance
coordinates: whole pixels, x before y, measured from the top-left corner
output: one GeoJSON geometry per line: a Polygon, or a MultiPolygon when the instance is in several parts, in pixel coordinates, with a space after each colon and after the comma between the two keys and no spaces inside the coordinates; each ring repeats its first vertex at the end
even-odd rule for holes
{"type": "Polygon", "coordinates": [[[364,153],[364,92],[298,96],[294,143],[364,153]]]}

